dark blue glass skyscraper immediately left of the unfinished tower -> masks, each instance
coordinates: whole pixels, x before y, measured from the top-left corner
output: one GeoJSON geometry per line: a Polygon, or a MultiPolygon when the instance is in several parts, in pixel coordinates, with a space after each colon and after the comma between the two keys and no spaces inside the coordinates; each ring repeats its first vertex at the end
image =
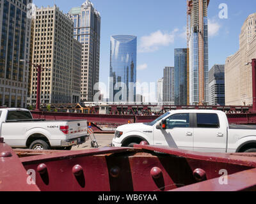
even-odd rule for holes
{"type": "Polygon", "coordinates": [[[174,49],[175,105],[188,105],[188,49],[174,49]]]}

